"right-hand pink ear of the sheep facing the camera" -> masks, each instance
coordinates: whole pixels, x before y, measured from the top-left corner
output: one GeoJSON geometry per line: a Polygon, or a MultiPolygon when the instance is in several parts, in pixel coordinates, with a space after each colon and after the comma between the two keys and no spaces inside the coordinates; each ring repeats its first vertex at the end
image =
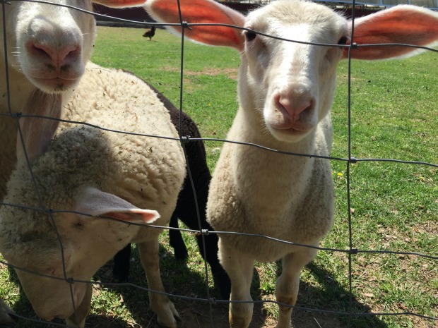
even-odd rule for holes
{"type": "MultiPolygon", "coordinates": [[[[350,30],[352,23],[350,22],[350,30]]],[[[355,19],[353,42],[357,44],[402,43],[430,46],[438,41],[438,14],[418,6],[395,6],[355,19]]],[[[401,46],[359,47],[355,59],[389,59],[413,55],[418,49],[401,46]]],[[[348,49],[344,50],[348,57],[348,49]]]]}

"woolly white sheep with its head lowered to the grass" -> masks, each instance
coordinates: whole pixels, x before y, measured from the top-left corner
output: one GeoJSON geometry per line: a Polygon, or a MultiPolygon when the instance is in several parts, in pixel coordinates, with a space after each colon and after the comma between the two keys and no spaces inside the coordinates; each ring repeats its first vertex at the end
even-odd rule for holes
{"type": "MultiPolygon", "coordinates": [[[[52,103],[51,95],[37,93],[28,99],[30,113],[52,103]],[[35,98],[44,101],[35,103],[35,98]]],[[[37,315],[84,327],[92,285],[52,277],[89,281],[124,245],[138,243],[151,308],[162,327],[176,328],[178,312],[162,294],[158,266],[162,229],[135,224],[156,219],[158,226],[167,225],[185,178],[184,153],[167,109],[135,75],[88,63],[62,119],[165,138],[60,123],[52,142],[53,133],[47,133],[37,147],[27,149],[41,202],[18,146],[17,168],[0,208],[0,252],[16,267],[37,315]],[[47,207],[52,214],[14,205],[47,207]]],[[[40,121],[20,119],[24,140],[39,132],[40,121]]]]}

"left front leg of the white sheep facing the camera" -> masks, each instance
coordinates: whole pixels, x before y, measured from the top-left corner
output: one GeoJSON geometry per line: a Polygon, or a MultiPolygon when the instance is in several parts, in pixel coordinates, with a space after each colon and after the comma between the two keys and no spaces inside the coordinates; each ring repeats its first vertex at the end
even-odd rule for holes
{"type": "Polygon", "coordinates": [[[230,327],[247,328],[254,308],[250,293],[254,260],[228,247],[223,238],[219,238],[219,254],[220,262],[231,279],[230,300],[248,301],[248,303],[230,303],[230,327]]]}

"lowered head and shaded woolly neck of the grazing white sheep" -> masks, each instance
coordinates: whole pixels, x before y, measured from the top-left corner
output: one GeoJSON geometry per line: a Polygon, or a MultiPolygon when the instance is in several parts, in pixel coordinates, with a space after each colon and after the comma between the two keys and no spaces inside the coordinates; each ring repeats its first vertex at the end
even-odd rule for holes
{"type": "Polygon", "coordinates": [[[0,207],[0,252],[16,267],[32,307],[45,320],[78,315],[81,322],[88,313],[90,285],[69,279],[89,281],[131,242],[138,224],[160,217],[102,191],[108,186],[100,186],[96,178],[100,164],[91,169],[84,157],[95,154],[102,163],[110,150],[97,128],[72,128],[49,147],[29,149],[35,185],[24,157],[11,174],[0,207]]]}

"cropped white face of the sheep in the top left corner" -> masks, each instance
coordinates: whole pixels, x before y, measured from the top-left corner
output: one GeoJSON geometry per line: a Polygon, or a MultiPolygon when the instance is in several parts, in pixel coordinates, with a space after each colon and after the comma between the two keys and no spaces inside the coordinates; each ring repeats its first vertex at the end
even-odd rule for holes
{"type": "Polygon", "coordinates": [[[88,13],[57,6],[92,11],[91,1],[51,2],[54,5],[13,1],[5,6],[8,67],[45,92],[61,92],[83,75],[95,40],[95,20],[88,13]]]}

